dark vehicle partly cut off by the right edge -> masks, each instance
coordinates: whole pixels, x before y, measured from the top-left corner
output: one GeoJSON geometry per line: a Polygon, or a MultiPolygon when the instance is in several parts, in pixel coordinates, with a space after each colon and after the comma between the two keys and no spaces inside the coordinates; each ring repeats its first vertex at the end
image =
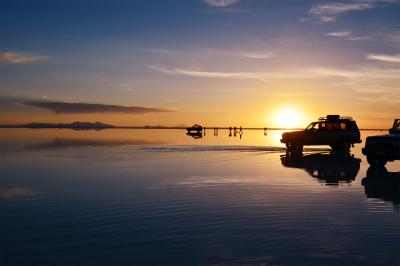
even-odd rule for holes
{"type": "Polygon", "coordinates": [[[367,137],[362,153],[374,167],[383,167],[388,161],[400,160],[400,119],[394,120],[389,134],[367,137]]]}

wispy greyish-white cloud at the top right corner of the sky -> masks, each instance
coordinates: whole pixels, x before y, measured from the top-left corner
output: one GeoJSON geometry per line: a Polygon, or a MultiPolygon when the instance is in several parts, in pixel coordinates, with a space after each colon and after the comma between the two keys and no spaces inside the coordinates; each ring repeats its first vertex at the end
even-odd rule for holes
{"type": "Polygon", "coordinates": [[[313,5],[309,14],[320,23],[336,21],[344,14],[377,8],[390,4],[398,4],[398,0],[354,0],[349,2],[328,2],[313,5]]]}

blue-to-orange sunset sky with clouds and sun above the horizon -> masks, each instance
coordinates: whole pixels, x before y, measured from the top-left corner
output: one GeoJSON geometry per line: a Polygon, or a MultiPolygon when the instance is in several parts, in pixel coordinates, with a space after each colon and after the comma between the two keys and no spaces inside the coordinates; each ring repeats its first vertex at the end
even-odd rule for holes
{"type": "Polygon", "coordinates": [[[0,123],[400,117],[400,0],[0,2],[0,123]]]}

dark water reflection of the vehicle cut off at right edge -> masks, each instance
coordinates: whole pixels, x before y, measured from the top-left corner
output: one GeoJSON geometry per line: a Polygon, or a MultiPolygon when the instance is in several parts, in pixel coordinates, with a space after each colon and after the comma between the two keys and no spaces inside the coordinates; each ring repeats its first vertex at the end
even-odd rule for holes
{"type": "Polygon", "coordinates": [[[382,199],[400,205],[400,172],[388,172],[384,167],[370,167],[361,184],[367,198],[382,199]]]}

